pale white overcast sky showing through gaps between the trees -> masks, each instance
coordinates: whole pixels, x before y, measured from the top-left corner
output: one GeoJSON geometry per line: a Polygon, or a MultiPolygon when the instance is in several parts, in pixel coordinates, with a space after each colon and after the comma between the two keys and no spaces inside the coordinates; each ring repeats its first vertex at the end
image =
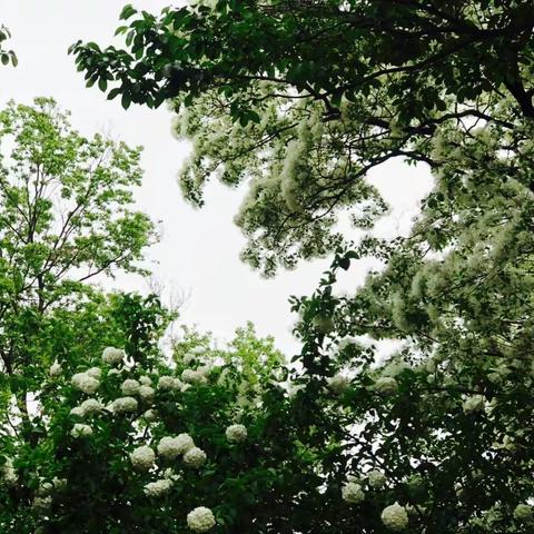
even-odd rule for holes
{"type": "MultiPolygon", "coordinates": [[[[125,111],[119,99],[107,101],[97,88],[87,89],[67,49],[78,39],[100,46],[112,41],[118,16],[126,1],[118,0],[0,0],[0,22],[12,32],[10,47],[17,68],[0,70],[0,103],[10,99],[30,103],[34,97],[53,97],[71,111],[73,127],[86,136],[106,132],[132,146],[144,146],[144,184],[136,190],[139,209],[158,221],[160,243],[147,250],[152,281],[119,275],[106,288],[147,293],[156,284],[164,296],[180,305],[180,323],[210,330],[221,342],[251,320],[260,335],[273,335],[288,356],[298,352],[291,335],[295,316],[290,295],[309,295],[328,259],[301,264],[294,271],[265,279],[239,261],[245,244],[233,217],[244,190],[211,184],[206,207],[194,209],[180,197],[177,174],[187,155],[186,141],[170,131],[171,115],[162,107],[149,110],[132,105],[125,111]]],[[[130,1],[157,12],[169,1],[130,1]]],[[[390,161],[372,172],[375,184],[392,204],[390,215],[378,224],[382,235],[405,233],[417,212],[419,199],[432,185],[428,171],[390,161]]],[[[349,236],[354,238],[355,236],[349,236]]],[[[362,261],[344,277],[342,287],[354,290],[370,264],[362,261]]]]}

